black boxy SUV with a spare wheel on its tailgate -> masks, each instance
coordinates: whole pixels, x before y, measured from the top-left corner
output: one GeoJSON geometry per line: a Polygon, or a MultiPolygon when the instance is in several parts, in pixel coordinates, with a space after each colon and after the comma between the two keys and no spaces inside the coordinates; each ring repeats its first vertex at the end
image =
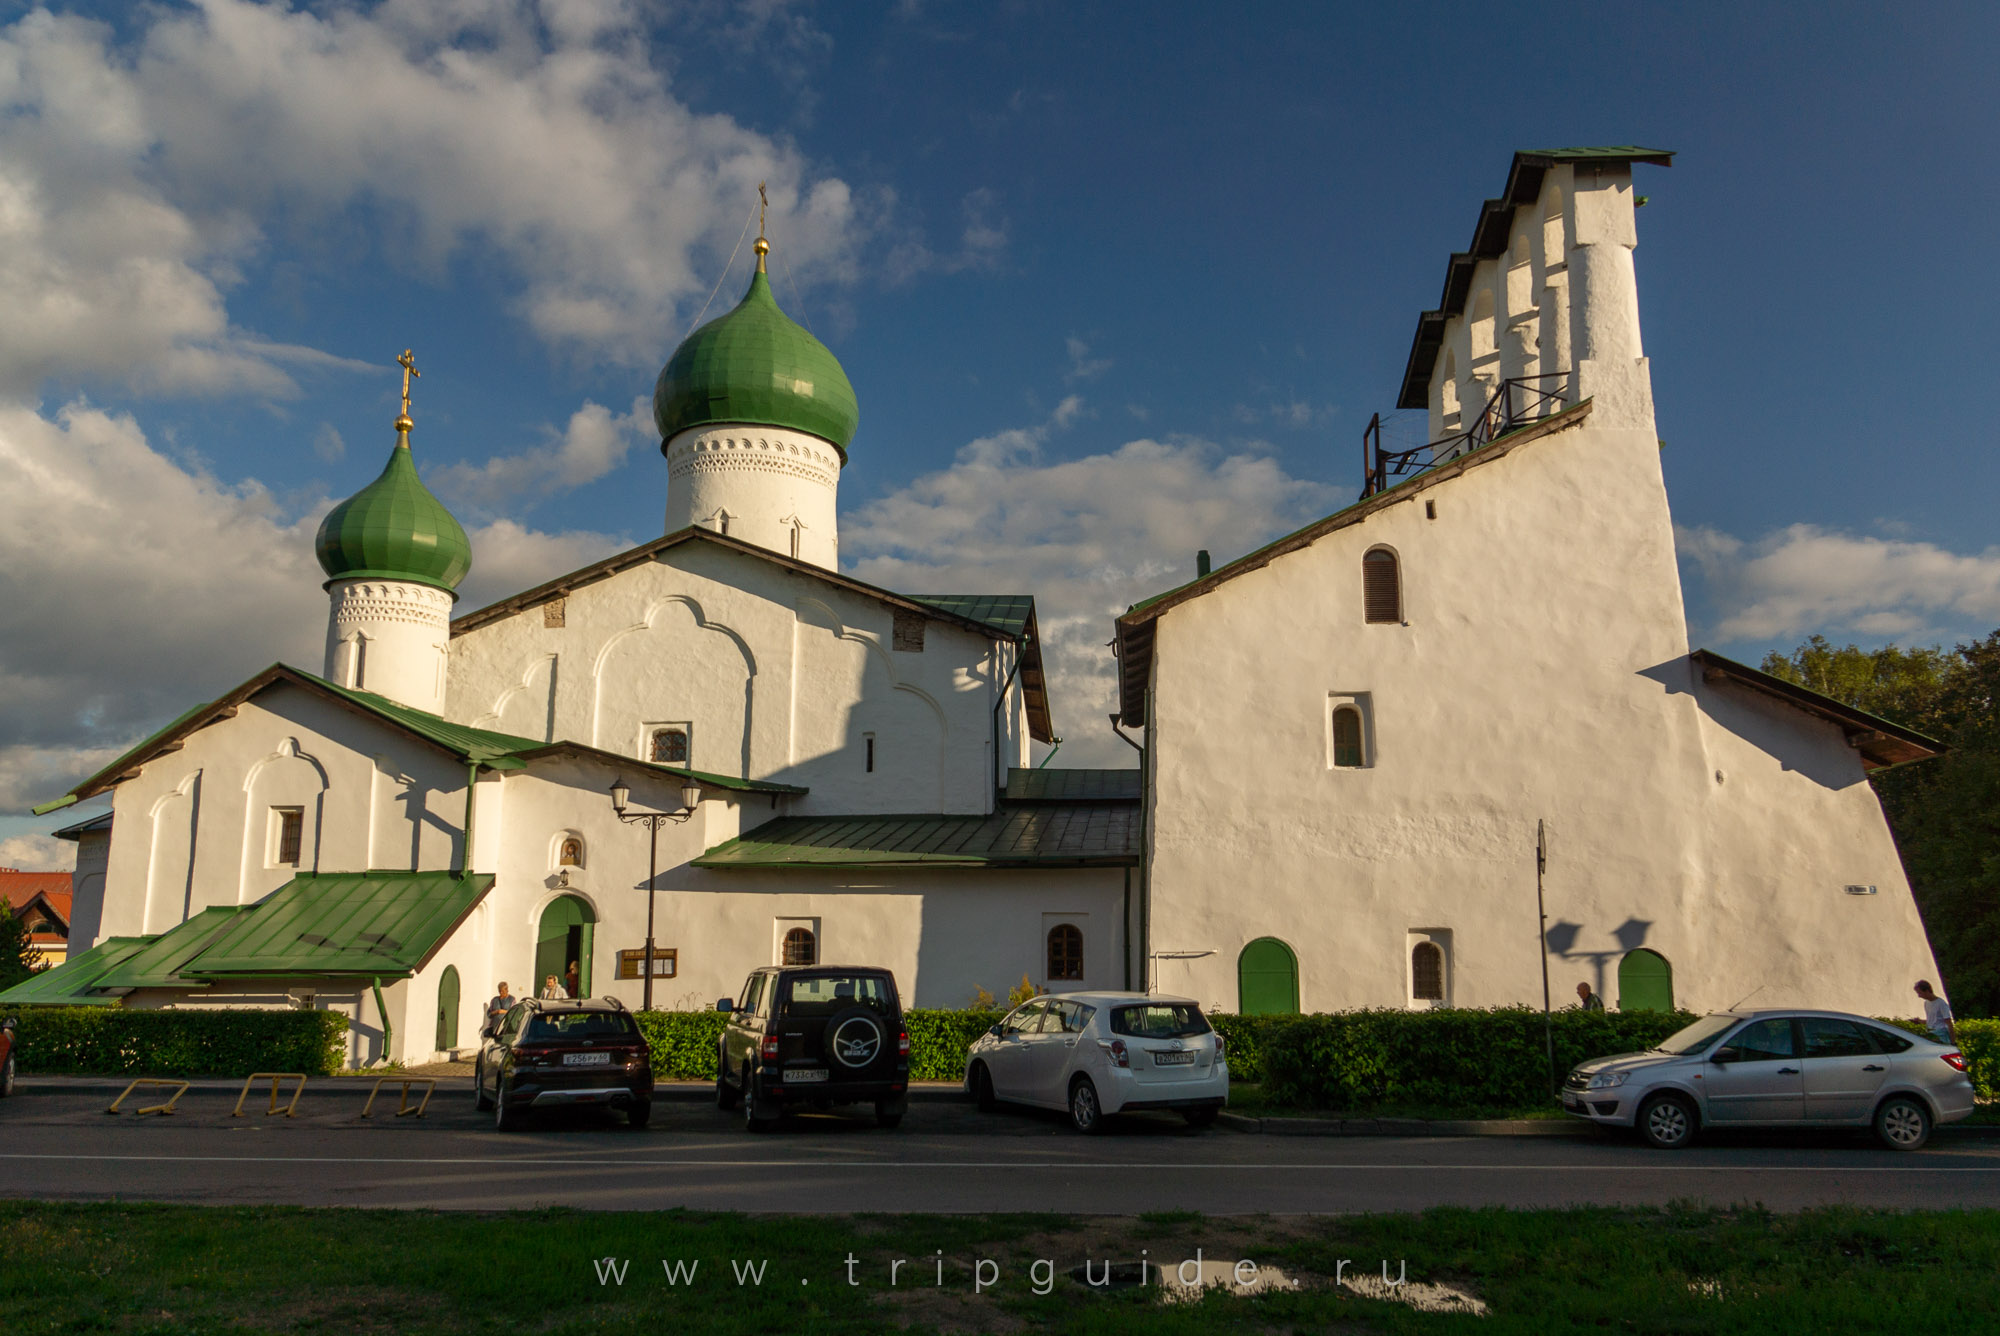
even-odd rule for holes
{"type": "Polygon", "coordinates": [[[910,1100],[910,1032],[888,970],[812,966],[756,970],[728,1012],[716,1104],[738,1104],[752,1132],[786,1110],[876,1106],[894,1128],[910,1100]]]}

